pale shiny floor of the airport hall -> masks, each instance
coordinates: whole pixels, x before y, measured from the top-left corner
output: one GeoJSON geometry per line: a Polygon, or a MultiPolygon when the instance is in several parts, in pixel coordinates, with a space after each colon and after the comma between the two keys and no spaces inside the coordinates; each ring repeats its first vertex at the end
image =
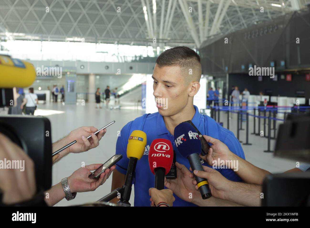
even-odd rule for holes
{"type": "MultiPolygon", "coordinates": [[[[47,114],[47,118],[51,121],[52,127],[52,140],[57,141],[61,137],[68,134],[71,130],[81,126],[94,126],[97,128],[103,127],[105,124],[115,120],[116,122],[107,128],[106,135],[101,139],[100,145],[97,148],[89,150],[80,154],[69,154],[58,163],[53,166],[53,185],[60,182],[64,177],[68,177],[81,167],[81,163],[103,163],[115,154],[115,145],[117,140],[117,132],[129,121],[144,114],[144,111],[138,110],[136,106],[130,106],[126,104],[126,109],[95,109],[95,104],[86,103],[84,106],[79,105],[63,105],[62,103],[50,103],[40,104],[39,113],[47,114]],[[57,111],[57,112],[56,112],[57,111]],[[55,114],[53,114],[55,113],[55,114]]],[[[3,110],[0,114],[4,114],[3,110]]],[[[221,113],[221,121],[224,122],[224,127],[227,127],[227,114],[221,113]]],[[[230,130],[235,135],[237,129],[236,114],[232,114],[230,119],[230,130]]],[[[256,124],[257,126],[257,124],[256,124]]],[[[243,124],[245,129],[246,125],[243,124]]],[[[253,132],[253,117],[249,120],[249,132],[253,132]]],[[[261,125],[263,129],[263,124],[261,125]]],[[[266,129],[268,129],[266,127],[266,129]]],[[[246,131],[240,131],[240,140],[245,142],[246,131]]],[[[273,157],[272,153],[265,153],[263,150],[267,150],[267,138],[260,136],[253,136],[249,134],[249,142],[252,145],[242,145],[246,160],[253,163],[259,168],[263,168],[272,173],[284,172],[288,169],[294,168],[296,161],[280,159],[273,157]]],[[[271,140],[271,149],[273,150],[275,140],[271,140]]],[[[100,186],[93,192],[78,193],[76,199],[72,201],[66,201],[65,199],[60,201],[56,206],[68,206],[81,203],[93,202],[111,191],[111,181],[109,178],[106,183],[100,186]]],[[[132,190],[130,203],[133,205],[132,190]]]]}

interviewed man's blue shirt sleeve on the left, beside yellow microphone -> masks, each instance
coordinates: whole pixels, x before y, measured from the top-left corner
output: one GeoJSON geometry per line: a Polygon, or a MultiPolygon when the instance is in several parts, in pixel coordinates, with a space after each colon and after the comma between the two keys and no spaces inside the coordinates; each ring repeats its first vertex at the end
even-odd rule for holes
{"type": "Polygon", "coordinates": [[[121,130],[120,135],[117,137],[116,141],[116,152],[115,154],[122,154],[122,159],[116,163],[116,169],[120,173],[126,175],[127,168],[129,164],[129,158],[127,158],[127,144],[129,138],[129,130],[131,127],[131,122],[127,123],[121,130]]]}

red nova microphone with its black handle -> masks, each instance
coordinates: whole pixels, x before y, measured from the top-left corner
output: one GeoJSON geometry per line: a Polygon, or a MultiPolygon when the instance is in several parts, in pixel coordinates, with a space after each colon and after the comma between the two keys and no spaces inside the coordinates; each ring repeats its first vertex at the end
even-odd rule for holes
{"type": "Polygon", "coordinates": [[[148,163],[155,175],[155,188],[164,189],[165,175],[170,171],[173,161],[173,147],[167,139],[155,139],[148,151],[148,163]]]}

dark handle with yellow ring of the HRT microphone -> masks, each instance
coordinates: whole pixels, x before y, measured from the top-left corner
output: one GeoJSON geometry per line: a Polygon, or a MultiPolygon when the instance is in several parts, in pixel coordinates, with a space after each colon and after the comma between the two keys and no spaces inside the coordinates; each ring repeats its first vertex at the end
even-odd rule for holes
{"type": "MultiPolygon", "coordinates": [[[[188,155],[187,159],[188,159],[189,164],[190,164],[193,171],[195,169],[199,170],[199,171],[204,171],[202,169],[198,154],[196,154],[196,153],[190,154],[190,155],[188,155]]],[[[198,186],[198,189],[200,191],[202,199],[210,198],[212,195],[211,195],[211,191],[210,191],[207,179],[201,178],[201,177],[196,177],[195,174],[194,174],[194,177],[197,181],[197,186],[198,186]]]]}

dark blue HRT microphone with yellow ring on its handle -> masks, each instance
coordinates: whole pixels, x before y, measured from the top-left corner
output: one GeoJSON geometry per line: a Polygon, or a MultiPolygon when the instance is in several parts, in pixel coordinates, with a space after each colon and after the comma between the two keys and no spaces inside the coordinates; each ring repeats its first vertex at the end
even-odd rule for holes
{"type": "MultiPolygon", "coordinates": [[[[175,145],[180,154],[187,158],[192,170],[203,171],[199,154],[201,141],[195,128],[189,123],[180,123],[174,130],[175,145]]],[[[195,176],[195,175],[194,175],[195,176]]],[[[205,178],[195,176],[202,199],[210,198],[211,191],[205,178]]]]}

